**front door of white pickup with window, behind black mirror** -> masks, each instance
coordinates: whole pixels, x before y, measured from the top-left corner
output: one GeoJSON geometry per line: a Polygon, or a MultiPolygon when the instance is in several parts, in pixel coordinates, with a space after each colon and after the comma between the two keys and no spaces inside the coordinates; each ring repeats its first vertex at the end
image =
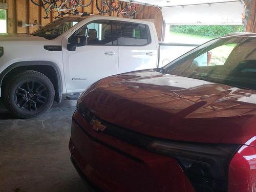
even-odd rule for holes
{"type": "MultiPolygon", "coordinates": [[[[113,45],[111,20],[95,20],[75,35],[87,37],[87,45],[68,51],[69,36],[62,39],[67,93],[81,92],[91,83],[118,73],[118,46],[113,45]]],[[[73,34],[73,35],[74,35],[73,34]]]]}

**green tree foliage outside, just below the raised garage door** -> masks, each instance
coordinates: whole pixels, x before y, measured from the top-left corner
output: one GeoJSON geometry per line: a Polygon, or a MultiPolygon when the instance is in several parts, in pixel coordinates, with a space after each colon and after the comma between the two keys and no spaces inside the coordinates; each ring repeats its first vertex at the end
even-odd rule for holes
{"type": "Polygon", "coordinates": [[[171,32],[188,33],[193,35],[219,37],[228,33],[243,32],[242,25],[176,25],[170,26],[171,32]]]}

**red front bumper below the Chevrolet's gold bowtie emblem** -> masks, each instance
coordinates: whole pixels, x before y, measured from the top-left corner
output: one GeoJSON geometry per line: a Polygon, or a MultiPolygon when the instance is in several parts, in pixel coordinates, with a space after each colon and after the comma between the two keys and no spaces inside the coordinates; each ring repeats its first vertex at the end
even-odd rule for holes
{"type": "Polygon", "coordinates": [[[175,159],[96,132],[77,111],[69,148],[81,172],[104,191],[194,191],[175,159]]]}

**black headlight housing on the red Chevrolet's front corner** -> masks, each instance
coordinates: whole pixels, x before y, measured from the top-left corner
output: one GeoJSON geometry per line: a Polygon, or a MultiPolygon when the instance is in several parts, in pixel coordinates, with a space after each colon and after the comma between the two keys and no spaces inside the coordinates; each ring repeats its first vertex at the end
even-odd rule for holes
{"type": "Polygon", "coordinates": [[[148,150],[175,158],[196,191],[228,190],[228,165],[241,147],[238,144],[208,144],[153,141],[148,150]]]}

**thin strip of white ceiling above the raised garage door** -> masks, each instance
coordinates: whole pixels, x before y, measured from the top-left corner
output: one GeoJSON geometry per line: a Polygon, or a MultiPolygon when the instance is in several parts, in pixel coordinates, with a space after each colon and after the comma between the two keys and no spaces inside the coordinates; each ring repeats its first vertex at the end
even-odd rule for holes
{"type": "MultiPolygon", "coordinates": [[[[129,0],[123,0],[130,2],[129,0]]],[[[135,0],[140,4],[146,4],[158,7],[172,7],[172,6],[186,6],[186,5],[198,5],[198,4],[213,4],[223,2],[240,2],[239,0],[135,0]]]]}

